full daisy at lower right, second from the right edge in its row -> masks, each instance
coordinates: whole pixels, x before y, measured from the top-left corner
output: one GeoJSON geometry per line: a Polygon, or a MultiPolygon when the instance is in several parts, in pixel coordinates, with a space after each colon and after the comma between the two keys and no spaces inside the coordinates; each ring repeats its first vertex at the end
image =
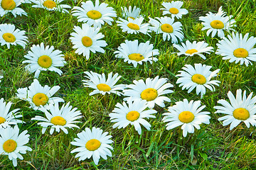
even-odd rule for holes
{"type": "Polygon", "coordinates": [[[163,121],[167,122],[166,130],[174,129],[180,125],[183,130],[183,137],[194,132],[194,128],[200,129],[201,123],[210,123],[210,112],[202,111],[206,106],[201,106],[201,101],[190,101],[187,99],[176,102],[170,106],[167,113],[164,113],[163,121]],[[201,112],[202,111],[202,112],[201,112]]]}

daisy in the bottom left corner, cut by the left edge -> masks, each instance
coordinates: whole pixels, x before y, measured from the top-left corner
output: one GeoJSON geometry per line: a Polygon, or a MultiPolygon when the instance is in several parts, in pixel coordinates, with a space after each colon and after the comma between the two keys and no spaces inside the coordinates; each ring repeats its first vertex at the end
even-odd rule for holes
{"type": "MultiPolygon", "coordinates": [[[[28,130],[24,130],[18,135],[18,126],[14,128],[7,127],[0,129],[0,153],[8,155],[14,166],[17,166],[17,159],[23,160],[21,154],[26,154],[27,151],[32,151],[31,147],[24,146],[29,141],[28,130]]],[[[2,156],[1,156],[2,157],[2,156]]]]}

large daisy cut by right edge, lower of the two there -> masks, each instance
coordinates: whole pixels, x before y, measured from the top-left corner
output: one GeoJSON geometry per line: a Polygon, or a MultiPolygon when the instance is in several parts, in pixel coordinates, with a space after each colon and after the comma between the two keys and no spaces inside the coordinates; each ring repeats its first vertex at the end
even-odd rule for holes
{"type": "Polygon", "coordinates": [[[231,91],[228,91],[228,101],[223,99],[219,100],[218,103],[222,106],[214,106],[217,111],[215,113],[223,113],[225,116],[218,118],[218,120],[224,120],[223,126],[229,125],[230,130],[233,130],[239,123],[244,122],[247,128],[256,125],[256,96],[252,98],[252,93],[247,97],[246,91],[242,94],[242,90],[236,91],[236,97],[231,91]]]}

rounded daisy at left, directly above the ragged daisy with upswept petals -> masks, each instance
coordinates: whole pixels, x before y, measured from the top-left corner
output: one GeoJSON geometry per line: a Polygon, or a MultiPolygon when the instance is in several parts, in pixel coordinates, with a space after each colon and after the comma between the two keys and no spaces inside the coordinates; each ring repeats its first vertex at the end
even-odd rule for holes
{"type": "Polygon", "coordinates": [[[54,47],[49,45],[44,47],[42,42],[41,45],[32,45],[31,51],[24,56],[28,60],[22,63],[29,63],[25,69],[31,73],[35,72],[35,78],[38,78],[41,71],[47,70],[61,75],[63,72],[57,67],[63,67],[66,63],[63,56],[60,50],[54,50],[54,47]]]}

